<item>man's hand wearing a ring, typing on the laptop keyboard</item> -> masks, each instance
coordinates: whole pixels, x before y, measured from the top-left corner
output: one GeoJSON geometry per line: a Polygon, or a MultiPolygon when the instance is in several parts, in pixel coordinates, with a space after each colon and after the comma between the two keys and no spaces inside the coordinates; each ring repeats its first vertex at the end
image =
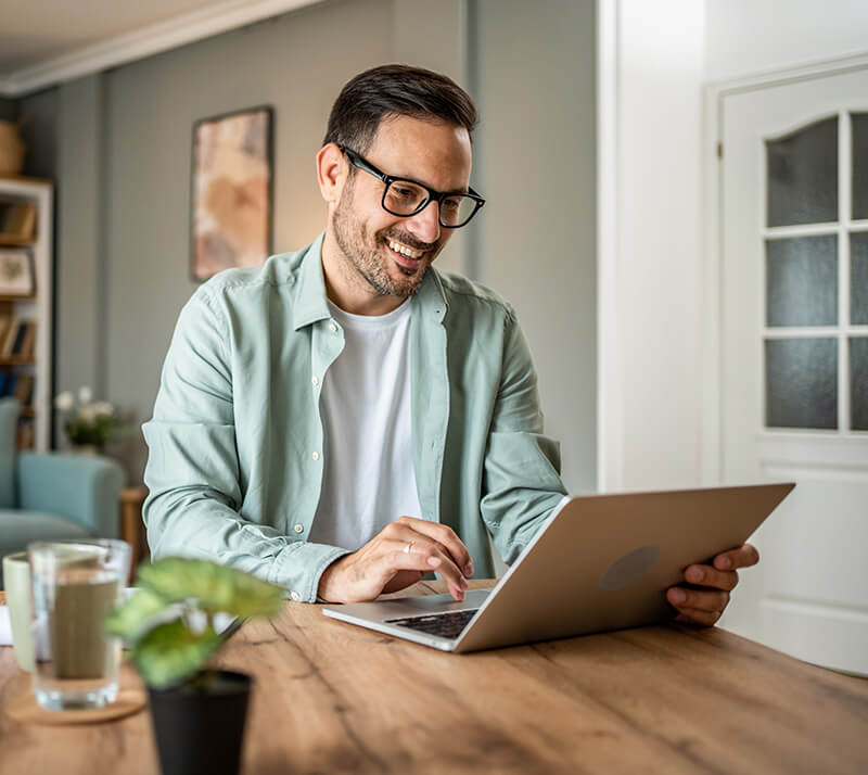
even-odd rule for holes
{"type": "Polygon", "coordinates": [[[468,547],[451,528],[401,517],[358,551],[332,562],[317,594],[331,602],[362,602],[416,584],[431,571],[443,576],[456,600],[464,599],[464,576],[473,574],[468,547]]]}

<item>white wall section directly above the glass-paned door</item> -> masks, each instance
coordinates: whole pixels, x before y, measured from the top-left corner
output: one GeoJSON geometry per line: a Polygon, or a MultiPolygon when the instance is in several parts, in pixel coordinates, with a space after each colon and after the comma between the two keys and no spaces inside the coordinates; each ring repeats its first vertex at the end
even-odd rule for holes
{"type": "Polygon", "coordinates": [[[866,0],[705,0],[705,78],[868,51],[866,0]]]}

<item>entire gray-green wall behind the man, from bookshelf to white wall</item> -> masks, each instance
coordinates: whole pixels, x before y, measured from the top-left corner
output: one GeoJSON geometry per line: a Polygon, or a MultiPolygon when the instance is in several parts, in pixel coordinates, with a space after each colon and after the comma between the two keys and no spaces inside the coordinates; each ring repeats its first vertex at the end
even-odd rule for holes
{"type": "MultiPolygon", "coordinates": [[[[592,488],[593,1],[525,5],[330,0],[22,100],[34,117],[28,171],[58,181],[56,390],[91,384],[138,424],[150,417],[195,288],[195,120],[273,105],[273,249],[294,250],[323,225],[314,154],[331,102],[357,72],[405,61],[449,73],[480,102],[473,179],[489,204],[441,265],[515,304],[567,485],[592,488]]],[[[141,481],[138,430],[115,453],[141,481]]]]}

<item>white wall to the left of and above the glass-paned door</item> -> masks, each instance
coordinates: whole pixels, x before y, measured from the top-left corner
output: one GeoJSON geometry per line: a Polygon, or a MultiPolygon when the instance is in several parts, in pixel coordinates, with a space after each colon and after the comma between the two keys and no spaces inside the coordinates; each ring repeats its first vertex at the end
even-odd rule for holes
{"type": "Polygon", "coordinates": [[[868,51],[866,0],[599,0],[600,488],[712,483],[703,87],[868,51]]]}

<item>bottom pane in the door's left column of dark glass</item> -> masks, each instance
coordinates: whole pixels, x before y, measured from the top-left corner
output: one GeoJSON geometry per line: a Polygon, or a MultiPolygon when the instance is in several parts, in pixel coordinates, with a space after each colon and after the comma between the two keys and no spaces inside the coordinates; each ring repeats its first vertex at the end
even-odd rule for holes
{"type": "Polygon", "coordinates": [[[766,340],[766,425],[838,428],[838,340],[766,340]]]}

